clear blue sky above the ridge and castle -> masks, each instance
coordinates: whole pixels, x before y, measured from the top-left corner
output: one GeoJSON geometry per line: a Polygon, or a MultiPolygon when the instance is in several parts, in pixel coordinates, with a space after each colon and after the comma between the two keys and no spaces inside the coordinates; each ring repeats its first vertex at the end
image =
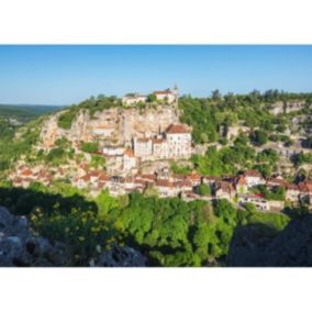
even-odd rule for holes
{"type": "Polygon", "coordinates": [[[312,45],[0,45],[0,103],[71,104],[174,87],[180,93],[312,91],[312,45]]]}

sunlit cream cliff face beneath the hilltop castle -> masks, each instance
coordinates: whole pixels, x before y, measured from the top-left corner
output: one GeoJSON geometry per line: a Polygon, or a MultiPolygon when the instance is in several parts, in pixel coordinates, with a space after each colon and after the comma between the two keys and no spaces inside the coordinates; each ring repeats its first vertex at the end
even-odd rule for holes
{"type": "Polygon", "coordinates": [[[90,116],[86,110],[80,110],[73,121],[70,130],[58,127],[58,112],[52,115],[43,125],[41,140],[45,148],[53,147],[55,141],[66,137],[70,142],[102,140],[115,145],[130,143],[133,136],[156,135],[165,131],[171,123],[179,121],[175,107],[158,105],[155,109],[118,109],[112,108],[97,112],[90,116]]]}

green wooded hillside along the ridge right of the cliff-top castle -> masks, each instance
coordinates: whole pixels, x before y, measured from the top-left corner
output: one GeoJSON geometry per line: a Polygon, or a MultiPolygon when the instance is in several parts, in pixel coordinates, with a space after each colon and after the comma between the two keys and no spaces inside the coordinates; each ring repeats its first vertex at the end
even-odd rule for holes
{"type": "Polygon", "coordinates": [[[259,145],[267,141],[267,132],[282,133],[287,119],[270,113],[272,103],[302,100],[312,103],[311,93],[287,93],[268,90],[264,93],[254,90],[248,94],[222,94],[215,90],[212,97],[196,99],[185,96],[179,99],[181,122],[193,127],[196,143],[219,141],[230,126],[245,125],[252,130],[260,129],[253,136],[259,145]]]}

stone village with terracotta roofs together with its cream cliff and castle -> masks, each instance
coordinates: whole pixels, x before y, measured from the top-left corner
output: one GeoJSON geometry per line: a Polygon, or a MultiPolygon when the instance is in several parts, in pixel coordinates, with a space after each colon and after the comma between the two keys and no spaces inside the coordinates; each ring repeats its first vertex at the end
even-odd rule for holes
{"type": "MultiPolygon", "coordinates": [[[[192,127],[179,121],[178,97],[177,88],[149,96],[126,94],[122,98],[122,110],[110,108],[96,113],[93,119],[82,111],[70,130],[62,130],[57,124],[59,114],[55,114],[43,127],[37,151],[51,151],[65,140],[70,142],[74,154],[82,153],[85,158],[74,157],[57,167],[30,166],[22,158],[10,174],[10,180],[13,186],[23,188],[33,182],[49,186],[55,180],[66,180],[94,197],[102,190],[113,197],[137,191],[159,198],[180,197],[185,201],[226,199],[237,208],[253,203],[260,211],[281,211],[286,203],[299,205],[303,202],[311,207],[310,180],[293,183],[278,172],[264,178],[255,169],[237,176],[205,176],[194,169],[186,175],[174,172],[172,161],[189,164],[191,156],[201,148],[192,140],[192,127]],[[138,108],[148,102],[157,102],[157,107],[140,111],[138,108]],[[92,165],[94,157],[103,159],[104,165],[92,165]]],[[[275,115],[287,109],[298,111],[302,103],[294,102],[287,108],[278,102],[271,113],[275,115]]],[[[226,137],[231,140],[246,132],[246,126],[232,126],[227,129],[226,137]]],[[[308,151],[279,148],[278,145],[272,148],[285,158],[297,153],[296,148],[299,153],[308,151]]]]}

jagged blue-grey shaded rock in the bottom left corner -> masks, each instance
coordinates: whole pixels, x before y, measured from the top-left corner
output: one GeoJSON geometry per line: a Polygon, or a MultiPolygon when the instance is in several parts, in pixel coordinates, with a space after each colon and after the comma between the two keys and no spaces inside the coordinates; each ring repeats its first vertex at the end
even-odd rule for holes
{"type": "Polygon", "coordinates": [[[64,266],[66,256],[60,246],[36,236],[27,219],[13,216],[0,207],[0,266],[64,266]]]}

